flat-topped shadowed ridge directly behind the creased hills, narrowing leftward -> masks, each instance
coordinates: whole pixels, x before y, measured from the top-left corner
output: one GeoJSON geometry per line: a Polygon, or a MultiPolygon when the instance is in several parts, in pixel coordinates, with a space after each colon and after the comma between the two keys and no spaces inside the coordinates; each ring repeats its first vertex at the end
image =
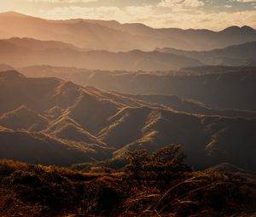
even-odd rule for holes
{"type": "Polygon", "coordinates": [[[84,85],[129,94],[174,94],[221,109],[255,111],[255,79],[255,71],[242,69],[203,75],[96,72],[84,85]]]}

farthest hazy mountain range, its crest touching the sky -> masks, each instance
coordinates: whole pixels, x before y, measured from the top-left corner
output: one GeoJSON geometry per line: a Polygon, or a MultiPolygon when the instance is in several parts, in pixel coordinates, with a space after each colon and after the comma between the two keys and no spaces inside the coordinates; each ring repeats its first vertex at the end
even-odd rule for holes
{"type": "Polygon", "coordinates": [[[143,24],[120,24],[114,20],[43,20],[15,12],[1,13],[0,26],[0,38],[32,37],[115,52],[166,47],[208,50],[256,40],[256,31],[249,26],[230,26],[223,31],[155,29],[143,24]]]}

